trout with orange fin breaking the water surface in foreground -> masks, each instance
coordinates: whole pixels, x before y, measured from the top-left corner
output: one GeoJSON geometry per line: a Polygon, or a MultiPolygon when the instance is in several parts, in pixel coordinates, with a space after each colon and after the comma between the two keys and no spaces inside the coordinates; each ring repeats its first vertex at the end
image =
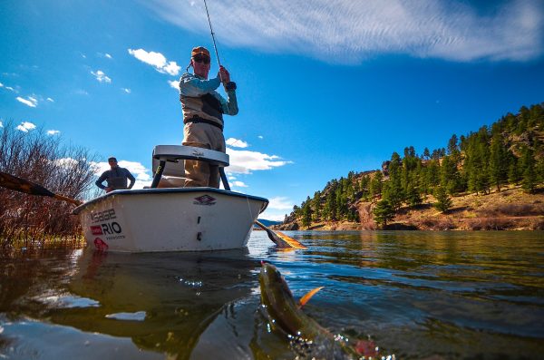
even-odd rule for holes
{"type": "MultiPolygon", "coordinates": [[[[305,353],[307,358],[372,359],[378,355],[372,341],[359,340],[352,344],[346,337],[330,333],[304,314],[301,307],[320,287],[296,302],[277,268],[264,262],[259,283],[261,301],[270,317],[270,325],[287,333],[295,350],[305,353]]],[[[394,359],[394,355],[388,358],[394,359]]]]}

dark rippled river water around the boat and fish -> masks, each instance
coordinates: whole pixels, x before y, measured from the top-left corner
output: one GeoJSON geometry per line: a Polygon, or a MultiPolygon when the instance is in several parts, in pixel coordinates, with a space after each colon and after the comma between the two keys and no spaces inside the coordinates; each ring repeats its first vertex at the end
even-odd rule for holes
{"type": "Polygon", "coordinates": [[[331,332],[396,359],[544,358],[544,232],[293,231],[309,248],[0,260],[0,358],[294,359],[260,304],[261,260],[331,332]]]}

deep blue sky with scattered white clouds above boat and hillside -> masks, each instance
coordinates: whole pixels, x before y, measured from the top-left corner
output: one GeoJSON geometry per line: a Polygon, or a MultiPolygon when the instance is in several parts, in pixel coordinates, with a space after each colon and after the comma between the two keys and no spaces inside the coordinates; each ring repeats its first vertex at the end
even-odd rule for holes
{"type": "MultiPolygon", "coordinates": [[[[238,83],[228,176],[233,190],[271,200],[265,219],[393,151],[445,147],[544,101],[539,0],[208,6],[238,83]]],[[[96,152],[97,172],[114,155],[137,187],[150,183],[153,147],[183,138],[175,82],[190,49],[213,53],[203,2],[5,0],[0,19],[1,126],[96,152]]]]}

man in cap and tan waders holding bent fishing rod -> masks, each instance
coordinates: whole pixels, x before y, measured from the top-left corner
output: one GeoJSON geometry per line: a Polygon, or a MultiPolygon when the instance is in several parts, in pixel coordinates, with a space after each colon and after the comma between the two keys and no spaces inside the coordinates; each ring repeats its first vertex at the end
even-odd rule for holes
{"type": "MultiPolygon", "coordinates": [[[[226,151],[223,136],[223,114],[236,115],[236,83],[223,66],[218,75],[208,80],[210,57],[208,49],[192,49],[190,63],[194,73],[184,73],[180,78],[180,102],[183,110],[183,145],[226,151]],[[225,100],[216,90],[223,83],[227,92],[225,100]]],[[[219,167],[204,161],[185,161],[185,187],[219,188],[219,167]]]]}

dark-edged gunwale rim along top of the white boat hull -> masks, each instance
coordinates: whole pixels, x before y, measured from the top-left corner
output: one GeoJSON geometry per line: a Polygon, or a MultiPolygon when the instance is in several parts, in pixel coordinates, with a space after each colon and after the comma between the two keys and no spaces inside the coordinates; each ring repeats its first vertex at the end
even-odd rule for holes
{"type": "Polygon", "coordinates": [[[78,206],[77,208],[73,209],[72,214],[73,215],[79,215],[83,209],[88,207],[89,205],[98,203],[102,201],[102,199],[106,199],[110,196],[114,195],[153,195],[153,194],[171,194],[171,193],[184,193],[184,192],[213,192],[218,193],[222,195],[227,196],[234,196],[237,198],[245,198],[245,199],[254,199],[257,201],[263,201],[265,202],[265,206],[263,209],[259,211],[259,213],[262,213],[265,209],[267,209],[269,201],[268,199],[261,198],[254,195],[248,195],[243,194],[241,192],[236,191],[228,191],[228,190],[222,190],[222,189],[216,189],[216,188],[208,188],[208,187],[202,187],[202,188],[159,188],[159,189],[139,189],[139,190],[113,190],[111,192],[108,192],[107,194],[101,195],[98,198],[91,199],[87,202],[84,202],[82,205],[78,206]]]}

